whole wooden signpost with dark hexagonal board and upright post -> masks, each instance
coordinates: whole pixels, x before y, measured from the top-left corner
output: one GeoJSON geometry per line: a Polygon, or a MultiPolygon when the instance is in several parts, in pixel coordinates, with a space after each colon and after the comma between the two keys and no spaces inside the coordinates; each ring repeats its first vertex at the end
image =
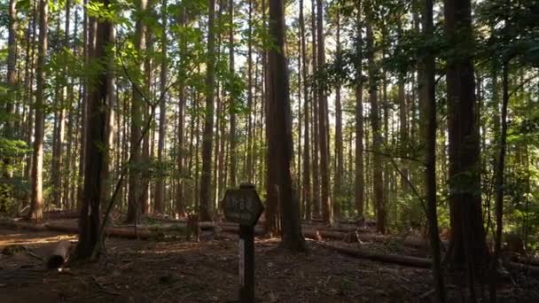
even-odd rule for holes
{"type": "Polygon", "coordinates": [[[224,193],[224,217],[239,224],[239,300],[254,302],[254,225],[264,206],[254,184],[243,183],[239,189],[224,193]]]}

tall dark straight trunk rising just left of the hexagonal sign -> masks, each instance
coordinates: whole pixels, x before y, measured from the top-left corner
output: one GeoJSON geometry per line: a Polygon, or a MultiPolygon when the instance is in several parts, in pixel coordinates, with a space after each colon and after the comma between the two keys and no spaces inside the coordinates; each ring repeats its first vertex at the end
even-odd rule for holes
{"type": "Polygon", "coordinates": [[[202,139],[199,220],[212,220],[212,146],[214,142],[215,0],[209,0],[207,21],[206,110],[202,139]]]}

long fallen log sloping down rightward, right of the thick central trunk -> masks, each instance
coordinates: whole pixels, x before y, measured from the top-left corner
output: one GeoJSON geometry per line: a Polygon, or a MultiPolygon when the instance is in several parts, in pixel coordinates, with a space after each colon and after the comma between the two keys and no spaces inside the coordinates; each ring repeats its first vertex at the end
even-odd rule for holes
{"type": "Polygon", "coordinates": [[[322,247],[332,249],[338,253],[343,253],[351,257],[376,260],[384,263],[394,263],[400,264],[415,268],[430,268],[432,265],[432,260],[426,258],[402,256],[398,254],[385,254],[385,253],[368,253],[364,251],[359,251],[351,249],[348,247],[341,247],[336,245],[329,245],[324,242],[318,242],[318,245],[322,247]]]}

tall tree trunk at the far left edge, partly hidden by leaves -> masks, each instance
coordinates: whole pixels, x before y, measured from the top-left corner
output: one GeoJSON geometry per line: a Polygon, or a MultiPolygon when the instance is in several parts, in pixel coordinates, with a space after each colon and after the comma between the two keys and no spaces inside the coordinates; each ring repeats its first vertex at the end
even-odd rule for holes
{"type": "MultiPolygon", "coordinates": [[[[16,1],[10,0],[9,15],[8,15],[8,54],[7,54],[7,85],[9,91],[9,99],[6,102],[5,113],[9,114],[7,121],[4,125],[4,138],[14,138],[14,126],[15,126],[15,92],[17,85],[17,77],[15,74],[15,67],[17,63],[17,8],[16,1]]],[[[6,178],[13,176],[12,159],[11,157],[3,157],[4,172],[3,175],[6,178]]]]}

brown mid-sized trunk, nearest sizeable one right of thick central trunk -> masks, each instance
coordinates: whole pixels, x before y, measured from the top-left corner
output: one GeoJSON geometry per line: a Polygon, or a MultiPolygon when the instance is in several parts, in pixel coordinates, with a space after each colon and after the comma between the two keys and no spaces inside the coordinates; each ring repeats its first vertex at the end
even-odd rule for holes
{"type": "MultiPolygon", "coordinates": [[[[317,38],[317,70],[321,71],[325,64],[324,46],[324,7],[322,0],[316,0],[316,38],[317,38]]],[[[317,88],[318,94],[318,141],[320,143],[320,199],[322,204],[322,220],[331,224],[333,221],[332,201],[330,198],[329,180],[329,144],[327,140],[327,96],[322,85],[317,88]]]]}

